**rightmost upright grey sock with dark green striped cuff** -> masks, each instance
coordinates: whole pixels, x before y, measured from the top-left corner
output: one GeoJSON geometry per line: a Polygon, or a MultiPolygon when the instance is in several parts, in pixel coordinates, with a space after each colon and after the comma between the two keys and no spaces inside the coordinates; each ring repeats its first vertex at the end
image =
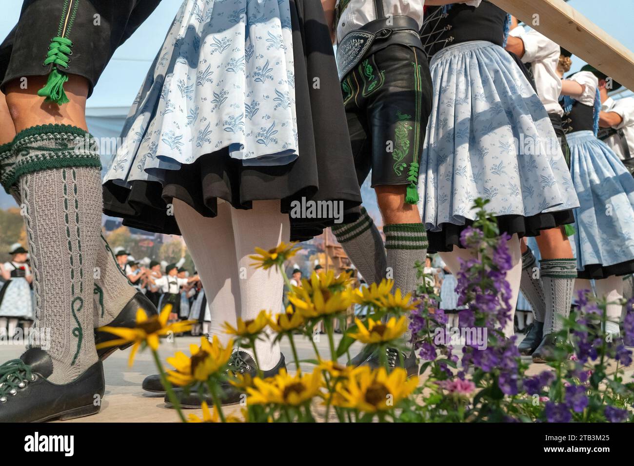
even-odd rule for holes
{"type": "Polygon", "coordinates": [[[544,335],[563,328],[573,302],[574,280],[577,277],[576,259],[548,259],[540,261],[541,283],[546,300],[544,335]]]}

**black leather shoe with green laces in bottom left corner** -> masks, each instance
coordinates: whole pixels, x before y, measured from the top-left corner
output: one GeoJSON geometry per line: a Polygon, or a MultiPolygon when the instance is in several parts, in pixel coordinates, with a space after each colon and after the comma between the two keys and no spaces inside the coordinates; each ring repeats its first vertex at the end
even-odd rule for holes
{"type": "Polygon", "coordinates": [[[99,412],[101,403],[95,401],[101,401],[106,389],[101,361],[70,384],[49,382],[51,373],[53,360],[39,348],[1,365],[0,422],[68,420],[99,412]]]}

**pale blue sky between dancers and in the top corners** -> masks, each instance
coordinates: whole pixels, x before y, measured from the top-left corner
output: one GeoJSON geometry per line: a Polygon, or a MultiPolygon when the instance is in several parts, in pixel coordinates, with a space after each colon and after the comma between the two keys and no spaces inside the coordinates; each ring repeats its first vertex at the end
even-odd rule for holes
{"type": "MultiPolygon", "coordinates": [[[[181,3],[182,0],[162,0],[136,34],[117,50],[88,101],[89,107],[131,105],[181,3]]],[[[22,2],[1,0],[1,4],[3,14],[0,15],[0,37],[5,37],[20,16],[22,2]]],[[[634,1],[571,0],[569,4],[628,49],[634,50],[634,36],[631,34],[634,1]],[[610,8],[597,8],[604,5],[609,5],[610,8]]],[[[44,52],[46,51],[42,51],[44,52]]],[[[583,63],[575,57],[572,70],[578,70],[583,63]]]]}

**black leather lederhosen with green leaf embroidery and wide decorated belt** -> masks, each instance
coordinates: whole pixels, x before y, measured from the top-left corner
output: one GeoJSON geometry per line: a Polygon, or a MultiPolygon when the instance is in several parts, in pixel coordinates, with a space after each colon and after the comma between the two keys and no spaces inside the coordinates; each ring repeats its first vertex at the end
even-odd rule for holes
{"type": "MultiPolygon", "coordinates": [[[[337,5],[337,18],[349,2],[337,5]]],[[[353,30],[337,46],[337,65],[359,186],[372,170],[372,186],[406,184],[418,200],[422,143],[431,111],[429,64],[409,16],[386,17],[353,30]]]]}

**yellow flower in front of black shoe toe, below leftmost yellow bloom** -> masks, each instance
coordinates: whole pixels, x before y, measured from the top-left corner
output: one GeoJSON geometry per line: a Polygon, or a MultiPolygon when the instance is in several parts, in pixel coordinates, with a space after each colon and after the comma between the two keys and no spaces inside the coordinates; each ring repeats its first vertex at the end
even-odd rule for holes
{"type": "Polygon", "coordinates": [[[181,387],[193,382],[205,382],[212,374],[224,368],[231,358],[232,350],[232,340],[227,346],[223,346],[216,335],[212,343],[206,337],[202,337],[200,346],[190,345],[191,357],[178,351],[171,358],[167,358],[167,362],[175,369],[167,371],[167,379],[181,387]]]}

